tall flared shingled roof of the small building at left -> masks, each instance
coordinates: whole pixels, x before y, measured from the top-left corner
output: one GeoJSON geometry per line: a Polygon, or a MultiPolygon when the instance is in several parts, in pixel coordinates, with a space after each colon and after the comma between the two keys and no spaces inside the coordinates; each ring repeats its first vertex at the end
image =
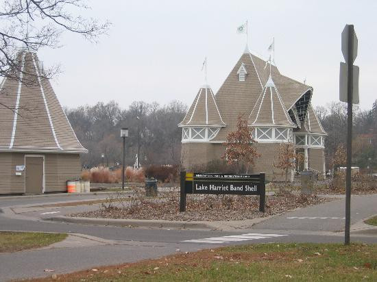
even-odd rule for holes
{"type": "Polygon", "coordinates": [[[0,151],[86,153],[62,110],[36,53],[20,51],[20,81],[0,88],[0,151]]]}

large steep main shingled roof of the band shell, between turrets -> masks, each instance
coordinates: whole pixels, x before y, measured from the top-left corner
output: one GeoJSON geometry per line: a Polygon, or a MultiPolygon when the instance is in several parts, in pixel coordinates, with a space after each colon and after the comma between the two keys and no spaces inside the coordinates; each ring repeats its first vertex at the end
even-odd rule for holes
{"type": "MultiPolygon", "coordinates": [[[[223,127],[219,131],[213,141],[222,142],[226,140],[227,134],[236,129],[237,116],[241,115],[243,118],[250,116],[250,113],[256,106],[258,97],[266,90],[265,86],[270,75],[269,68],[266,68],[266,65],[267,62],[265,60],[245,49],[215,95],[219,112],[223,122],[226,123],[226,127],[223,127]],[[247,71],[245,81],[239,81],[239,75],[237,74],[241,66],[247,71]]],[[[274,64],[271,65],[271,79],[275,85],[274,89],[271,88],[273,92],[272,96],[275,97],[274,99],[280,97],[280,105],[284,107],[286,113],[293,109],[297,101],[300,101],[303,97],[308,96],[310,101],[313,88],[282,75],[274,64]]],[[[282,116],[282,114],[277,114],[277,116],[282,116]]],[[[312,116],[315,117],[314,112],[312,116]]],[[[282,124],[285,123],[283,121],[281,120],[282,124]]],[[[288,117],[287,125],[291,125],[292,122],[293,120],[288,117]]],[[[318,133],[321,132],[319,131],[318,133]]]]}

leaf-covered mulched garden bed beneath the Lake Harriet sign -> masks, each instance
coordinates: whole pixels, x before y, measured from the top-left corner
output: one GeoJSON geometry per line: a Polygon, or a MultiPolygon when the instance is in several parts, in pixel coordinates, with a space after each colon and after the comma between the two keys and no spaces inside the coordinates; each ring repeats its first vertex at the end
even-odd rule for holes
{"type": "Polygon", "coordinates": [[[288,192],[267,197],[266,212],[259,211],[258,196],[205,195],[187,196],[186,211],[179,211],[178,196],[166,196],[160,200],[139,198],[123,207],[102,205],[97,211],[86,211],[70,216],[86,218],[120,218],[176,221],[245,220],[281,214],[297,207],[317,205],[333,198],[316,195],[301,196],[288,192]]]}

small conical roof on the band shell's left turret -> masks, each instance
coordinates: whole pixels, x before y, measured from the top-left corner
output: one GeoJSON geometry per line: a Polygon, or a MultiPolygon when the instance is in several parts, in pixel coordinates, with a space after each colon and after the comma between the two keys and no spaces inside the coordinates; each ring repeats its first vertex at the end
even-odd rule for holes
{"type": "Polygon", "coordinates": [[[187,112],[184,119],[179,126],[187,125],[212,125],[212,126],[225,126],[221,118],[221,114],[216,105],[215,96],[212,89],[208,85],[202,86],[189,112],[187,112]]]}

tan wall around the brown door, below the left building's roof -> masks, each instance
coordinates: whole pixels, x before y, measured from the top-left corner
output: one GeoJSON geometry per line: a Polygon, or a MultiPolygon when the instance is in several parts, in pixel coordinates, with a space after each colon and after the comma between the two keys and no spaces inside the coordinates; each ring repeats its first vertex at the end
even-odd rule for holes
{"type": "Polygon", "coordinates": [[[25,165],[25,155],[45,156],[45,192],[64,192],[66,181],[81,175],[79,154],[0,153],[0,194],[25,192],[25,170],[16,175],[16,166],[25,165]]]}

